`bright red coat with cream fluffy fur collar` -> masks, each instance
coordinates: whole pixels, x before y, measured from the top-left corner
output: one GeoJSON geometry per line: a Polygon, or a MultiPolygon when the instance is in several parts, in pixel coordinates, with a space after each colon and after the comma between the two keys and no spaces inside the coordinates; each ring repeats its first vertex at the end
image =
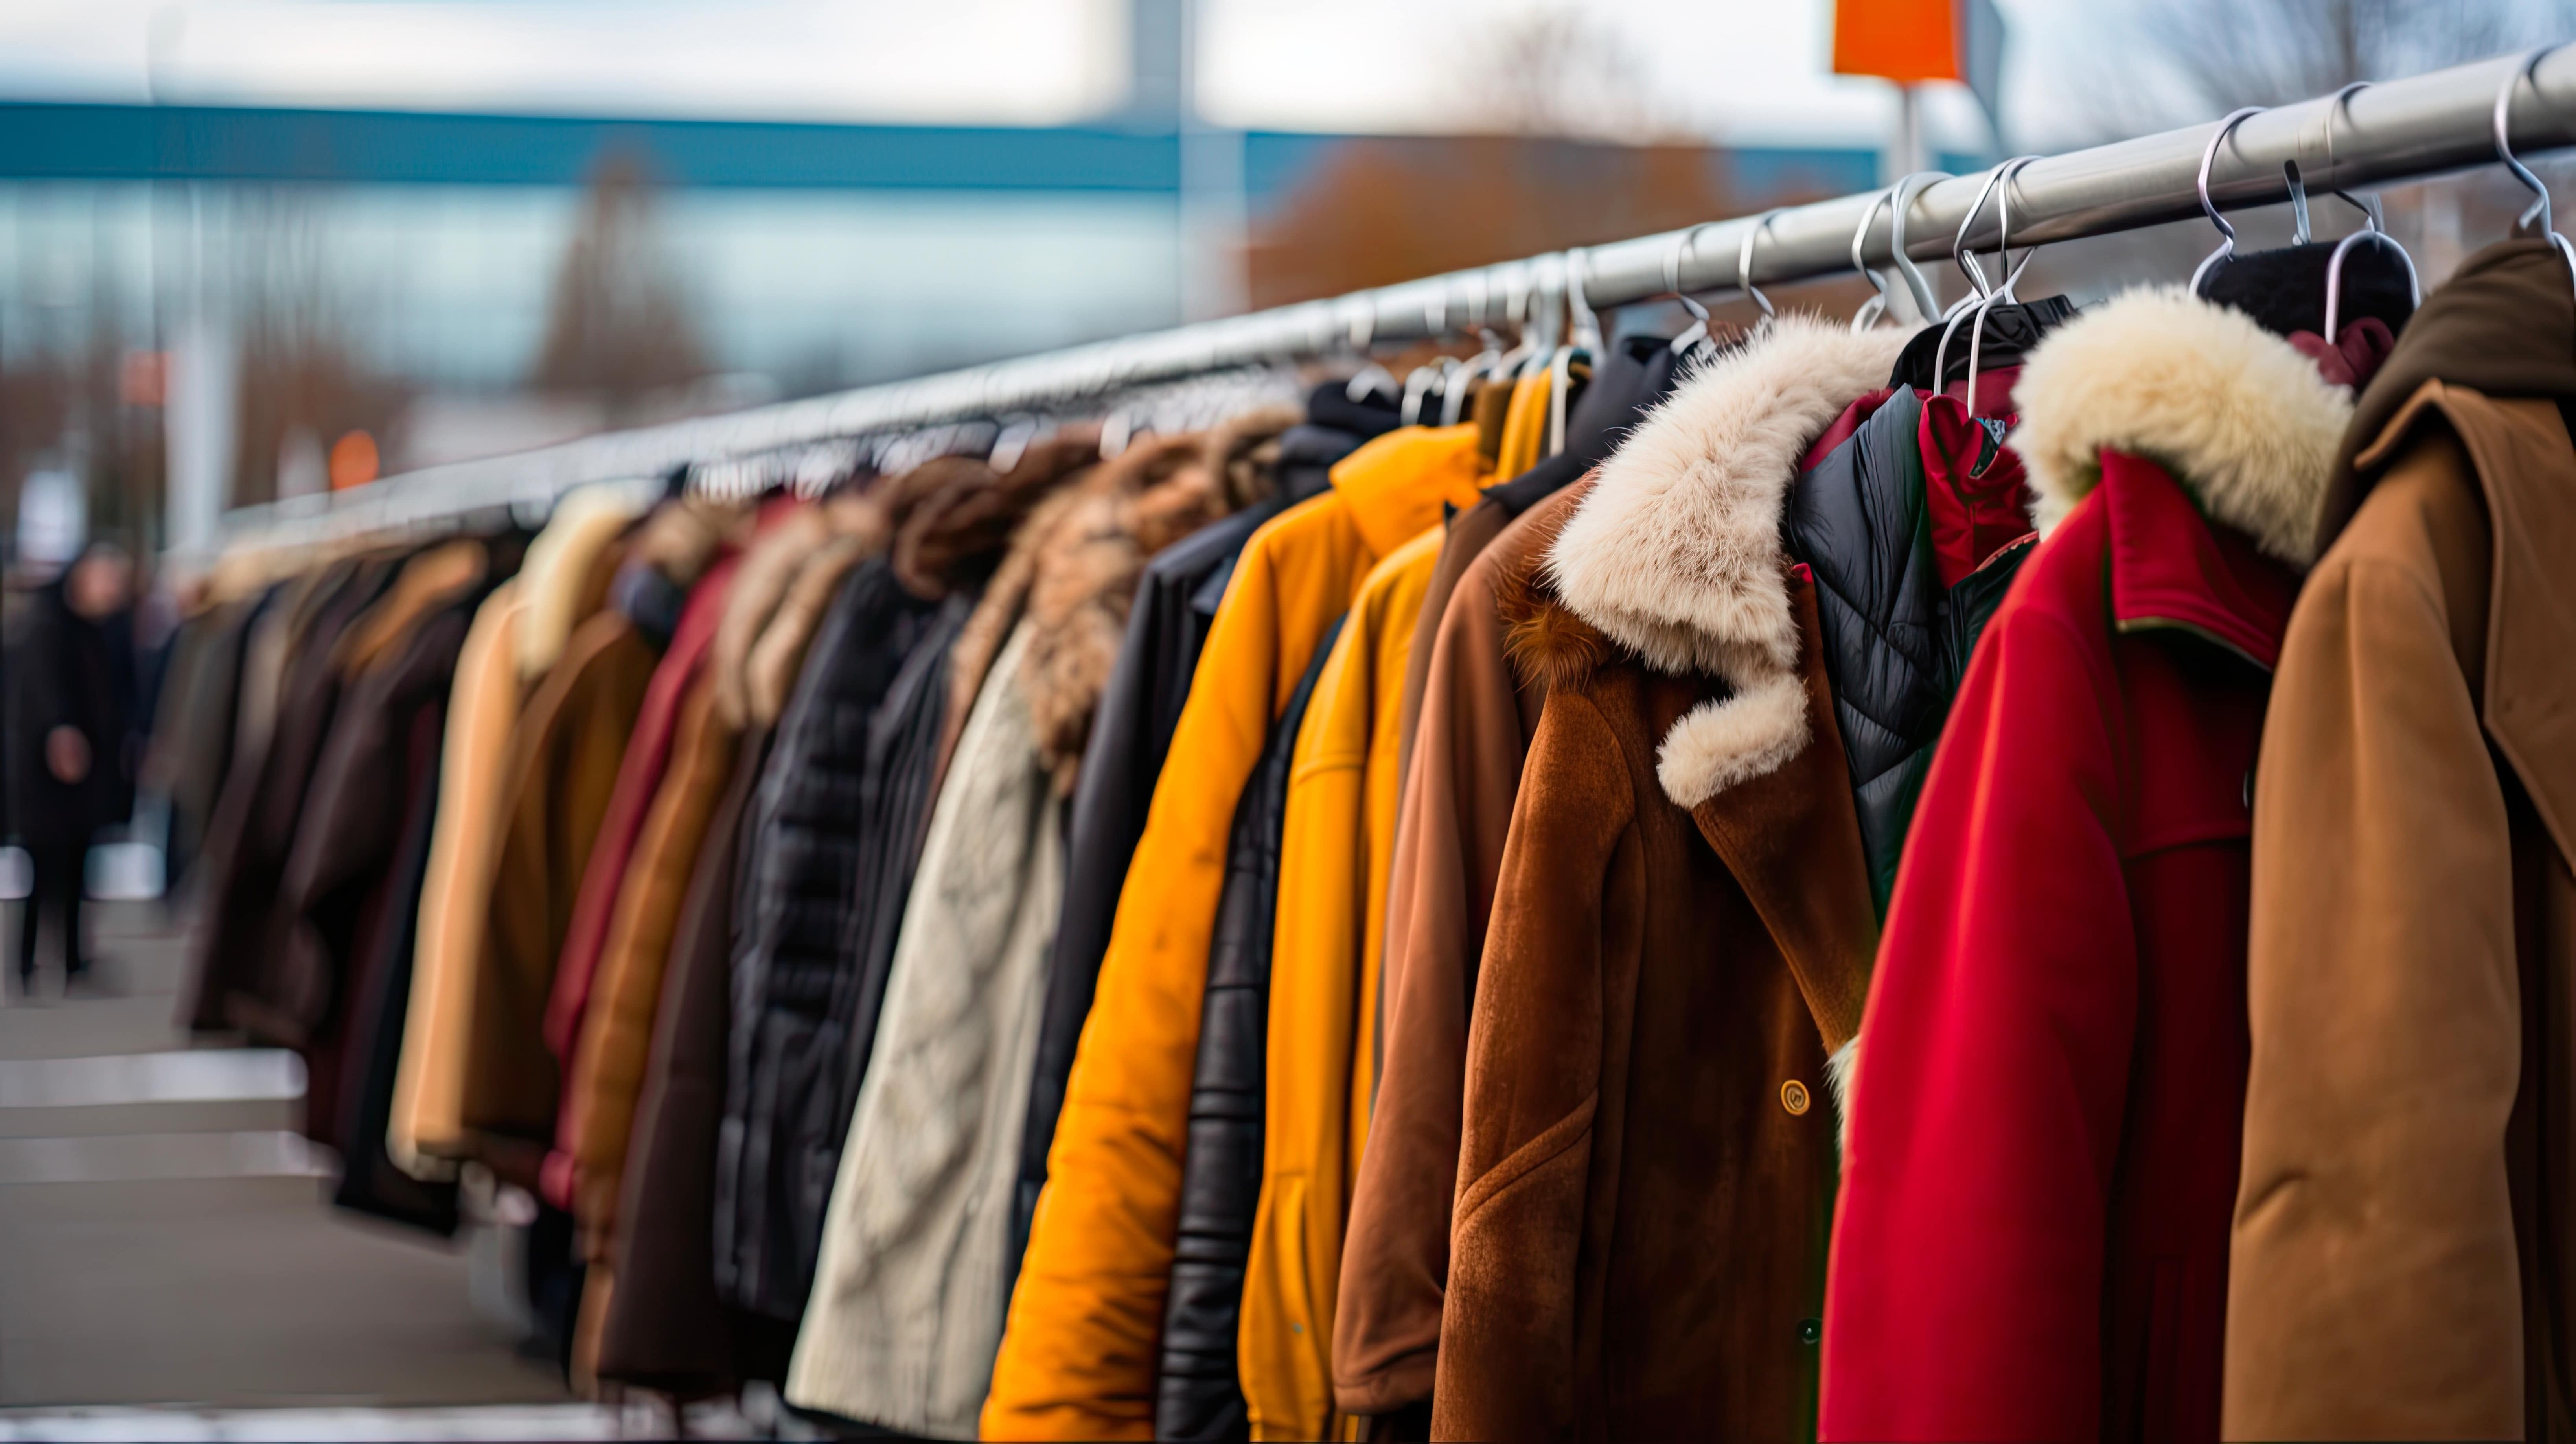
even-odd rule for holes
{"type": "Polygon", "coordinates": [[[1888,908],[1821,1436],[2215,1439],[2254,743],[2352,397],[2177,289],[2014,402],[2043,542],[1888,908]]]}

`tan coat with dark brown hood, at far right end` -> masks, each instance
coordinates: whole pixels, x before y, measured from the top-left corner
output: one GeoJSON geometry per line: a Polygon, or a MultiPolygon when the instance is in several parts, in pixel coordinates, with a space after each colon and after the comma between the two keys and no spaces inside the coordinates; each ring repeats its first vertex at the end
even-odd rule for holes
{"type": "Polygon", "coordinates": [[[2344,438],[2254,784],[2228,1439],[2576,1431],[2571,402],[2522,240],[2344,438]]]}

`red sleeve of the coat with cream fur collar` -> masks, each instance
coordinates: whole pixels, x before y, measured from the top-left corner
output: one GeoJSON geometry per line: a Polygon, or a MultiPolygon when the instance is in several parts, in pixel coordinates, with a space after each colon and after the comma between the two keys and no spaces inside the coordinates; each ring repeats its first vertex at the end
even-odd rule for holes
{"type": "MultiPolygon", "coordinates": [[[[2027,578],[2025,578],[2027,580],[2027,578]]],[[[2099,639],[2007,606],[1968,668],[1862,1016],[1824,1439],[2092,1439],[2138,946],[2099,639]]]]}

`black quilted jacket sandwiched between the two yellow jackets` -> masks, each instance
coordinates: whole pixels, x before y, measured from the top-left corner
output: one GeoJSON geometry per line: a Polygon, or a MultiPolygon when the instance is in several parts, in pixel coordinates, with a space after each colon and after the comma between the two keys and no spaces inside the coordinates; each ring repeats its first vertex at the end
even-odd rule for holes
{"type": "Polygon", "coordinates": [[[1270,722],[1262,761],[1234,799],[1226,884],[1208,939],[1208,993],[1190,1075],[1190,1153],[1180,1173],[1180,1235],[1162,1312],[1154,1439],[1244,1439],[1252,1429],[1234,1336],[1244,1258],[1262,1196],[1262,1091],[1270,1068],[1270,939],[1280,903],[1280,835],[1296,732],[1342,621],[1324,629],[1288,709],[1270,722]]]}

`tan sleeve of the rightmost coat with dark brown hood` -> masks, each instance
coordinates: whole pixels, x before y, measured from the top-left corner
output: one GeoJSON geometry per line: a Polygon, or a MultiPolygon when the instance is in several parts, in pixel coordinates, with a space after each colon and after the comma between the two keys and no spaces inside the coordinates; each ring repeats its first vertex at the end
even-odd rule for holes
{"type": "MultiPolygon", "coordinates": [[[[2486,627],[2372,544],[2416,505],[2409,482],[2347,534],[2372,560],[2339,547],[2303,588],[2264,717],[2228,1439],[2524,1429],[2514,866],[2452,650],[2486,627]]],[[[2483,562],[2483,526],[2460,552],[2483,562]]],[[[2483,609],[2483,575],[2470,590],[2483,609]]]]}

